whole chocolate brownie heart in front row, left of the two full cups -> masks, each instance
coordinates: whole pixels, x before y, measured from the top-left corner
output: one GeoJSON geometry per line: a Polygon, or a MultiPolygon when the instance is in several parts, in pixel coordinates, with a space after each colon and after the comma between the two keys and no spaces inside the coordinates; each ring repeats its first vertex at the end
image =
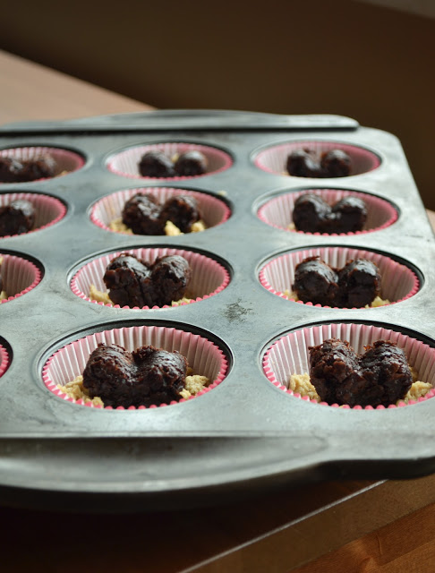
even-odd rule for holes
{"type": "Polygon", "coordinates": [[[99,344],[83,372],[83,387],[105,406],[158,406],[182,398],[186,372],[187,361],[176,351],[141,346],[130,353],[99,344]]]}

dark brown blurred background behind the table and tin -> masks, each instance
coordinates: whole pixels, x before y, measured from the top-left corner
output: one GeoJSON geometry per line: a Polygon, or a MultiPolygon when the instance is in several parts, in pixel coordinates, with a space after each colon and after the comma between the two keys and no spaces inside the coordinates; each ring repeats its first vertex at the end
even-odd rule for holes
{"type": "Polygon", "coordinates": [[[351,0],[17,1],[0,38],[155,107],[349,115],[395,133],[435,210],[435,19],[351,0]]]}

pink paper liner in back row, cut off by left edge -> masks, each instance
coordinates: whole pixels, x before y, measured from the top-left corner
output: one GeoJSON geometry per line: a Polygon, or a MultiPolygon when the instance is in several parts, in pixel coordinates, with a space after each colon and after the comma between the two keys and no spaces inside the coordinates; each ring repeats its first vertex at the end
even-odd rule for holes
{"type": "MultiPolygon", "coordinates": [[[[33,159],[41,155],[49,155],[55,159],[55,177],[61,175],[68,175],[77,169],[84,166],[85,160],[78,153],[70,150],[62,150],[57,147],[16,147],[8,150],[0,150],[0,157],[15,158],[15,159],[33,159]]],[[[46,177],[47,178],[47,177],[46,177]]],[[[43,181],[44,179],[36,179],[33,181],[26,181],[21,184],[35,183],[35,181],[43,181]]],[[[1,182],[0,182],[1,184],[1,182]]]]}

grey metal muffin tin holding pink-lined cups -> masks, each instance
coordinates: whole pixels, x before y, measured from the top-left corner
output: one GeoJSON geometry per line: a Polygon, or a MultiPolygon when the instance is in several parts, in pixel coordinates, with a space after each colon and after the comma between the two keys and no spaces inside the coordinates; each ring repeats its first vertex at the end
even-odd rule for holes
{"type": "Polygon", "coordinates": [[[435,243],[395,136],[335,115],[183,110],[0,128],[2,150],[39,146],[67,150],[84,164],[61,177],[0,185],[0,198],[24,192],[65,207],[55,224],[0,238],[0,255],[30,261],[40,278],[0,304],[0,500],[108,510],[192,506],[243,494],[248,486],[435,470],[435,400],[382,411],[311,404],[283,392],[277,387],[283,381],[272,383],[263,364],[271,346],[292,332],[351,323],[419,341],[431,377],[435,243]],[[298,141],[362,150],[362,157],[376,160],[369,170],[339,179],[259,167],[267,151],[298,141]],[[171,181],[114,172],[120,154],[167,144],[216,149],[225,166],[171,181]],[[179,236],[125,235],[107,230],[106,222],[95,224],[100,201],[139,187],[199,192],[224,208],[206,231],[179,236]],[[392,216],[370,232],[339,236],[292,233],[264,221],[271,201],[288,204],[283,198],[308,189],[368,193],[392,216]],[[380,308],[330,309],[294,303],[261,284],[271,261],[328,247],[398,261],[418,279],[418,290],[380,308]],[[90,261],[141,248],[199,253],[225,269],[225,286],[195,304],[158,309],[114,308],[73,292],[73,278],[90,261]],[[47,389],[43,369],[61,348],[81,352],[77,341],[129,327],[205,338],[225,356],[226,373],[197,398],[132,411],[86,407],[47,389]]]}

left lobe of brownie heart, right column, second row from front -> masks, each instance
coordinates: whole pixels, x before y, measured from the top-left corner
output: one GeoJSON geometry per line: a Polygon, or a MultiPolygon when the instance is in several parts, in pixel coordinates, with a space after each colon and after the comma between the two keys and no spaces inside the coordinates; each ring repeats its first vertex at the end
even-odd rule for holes
{"type": "Polygon", "coordinates": [[[338,275],[320,257],[308,257],[294,270],[292,289],[303,303],[337,306],[338,275]]]}

